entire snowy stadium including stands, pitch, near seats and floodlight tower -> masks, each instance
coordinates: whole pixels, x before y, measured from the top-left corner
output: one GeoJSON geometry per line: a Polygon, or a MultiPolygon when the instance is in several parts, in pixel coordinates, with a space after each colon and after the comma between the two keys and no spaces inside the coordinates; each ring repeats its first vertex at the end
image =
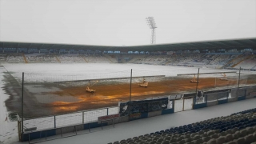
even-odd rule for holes
{"type": "Polygon", "coordinates": [[[156,44],[146,22],[150,45],[0,37],[0,144],[256,143],[256,38],[156,44]]]}

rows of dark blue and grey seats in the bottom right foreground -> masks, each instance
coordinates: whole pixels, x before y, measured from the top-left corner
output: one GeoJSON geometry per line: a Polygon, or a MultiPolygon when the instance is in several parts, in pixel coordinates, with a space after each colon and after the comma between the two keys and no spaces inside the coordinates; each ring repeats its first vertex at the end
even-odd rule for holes
{"type": "Polygon", "coordinates": [[[256,142],[256,108],[108,144],[250,144],[256,142]]]}

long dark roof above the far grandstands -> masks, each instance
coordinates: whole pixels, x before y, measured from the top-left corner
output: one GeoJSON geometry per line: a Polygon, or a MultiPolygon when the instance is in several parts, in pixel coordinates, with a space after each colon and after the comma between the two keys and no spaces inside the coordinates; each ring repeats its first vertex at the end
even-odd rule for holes
{"type": "Polygon", "coordinates": [[[92,46],[34,42],[0,42],[0,48],[37,48],[66,50],[113,50],[113,51],[173,51],[173,50],[256,50],[256,38],[239,38],[202,42],[179,42],[145,46],[92,46]]]}

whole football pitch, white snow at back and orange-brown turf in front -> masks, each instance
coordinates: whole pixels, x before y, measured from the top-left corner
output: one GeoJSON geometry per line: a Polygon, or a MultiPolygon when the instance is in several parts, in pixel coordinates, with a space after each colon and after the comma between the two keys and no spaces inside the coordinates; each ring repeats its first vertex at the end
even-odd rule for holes
{"type": "MultiPolygon", "coordinates": [[[[24,117],[69,114],[118,106],[118,102],[194,93],[198,68],[137,64],[5,64],[6,100],[9,111],[20,114],[22,72],[24,72],[24,117]],[[131,71],[132,69],[132,71],[131,71]],[[188,74],[177,76],[177,74],[188,74]],[[132,77],[132,78],[130,78],[132,77]],[[139,86],[142,81],[148,86],[139,86]],[[86,91],[86,86],[95,90],[86,91]]],[[[200,73],[234,70],[200,69],[200,73]]],[[[198,90],[222,89],[238,85],[238,74],[199,74],[198,90]]],[[[240,86],[254,85],[252,74],[242,74],[240,86]]]]}

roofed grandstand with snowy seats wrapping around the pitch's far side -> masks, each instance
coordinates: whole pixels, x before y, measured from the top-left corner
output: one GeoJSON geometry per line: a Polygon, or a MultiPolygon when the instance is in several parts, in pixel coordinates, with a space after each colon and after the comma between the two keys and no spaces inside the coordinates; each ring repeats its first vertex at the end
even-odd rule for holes
{"type": "Polygon", "coordinates": [[[135,63],[255,70],[255,38],[152,46],[0,42],[2,63],[135,63]],[[157,50],[157,51],[156,51],[157,50]],[[171,51],[171,54],[168,53],[171,51]],[[245,64],[246,63],[246,64],[245,64]]]}

